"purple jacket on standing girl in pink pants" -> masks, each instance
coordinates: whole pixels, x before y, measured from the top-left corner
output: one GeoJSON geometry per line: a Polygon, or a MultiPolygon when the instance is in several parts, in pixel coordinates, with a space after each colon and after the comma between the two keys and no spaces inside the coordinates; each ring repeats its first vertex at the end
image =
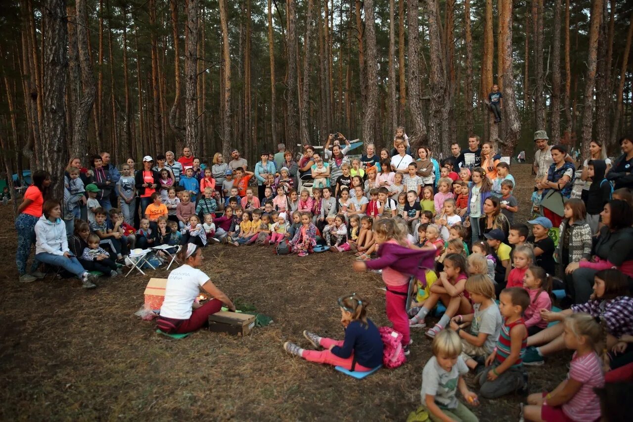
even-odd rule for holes
{"type": "Polygon", "coordinates": [[[425,269],[435,267],[435,249],[411,249],[396,243],[383,243],[377,252],[379,258],[365,261],[368,269],[392,269],[410,274],[423,283],[426,280],[425,269]]]}

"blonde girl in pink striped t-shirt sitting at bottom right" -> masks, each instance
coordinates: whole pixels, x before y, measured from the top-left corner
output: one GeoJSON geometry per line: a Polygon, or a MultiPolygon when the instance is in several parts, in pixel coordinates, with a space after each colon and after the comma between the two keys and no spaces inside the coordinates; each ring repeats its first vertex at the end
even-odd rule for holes
{"type": "Polygon", "coordinates": [[[599,318],[583,313],[568,316],[563,324],[565,347],[574,350],[568,376],[549,393],[530,394],[523,417],[530,421],[597,421],[601,412],[594,388],[605,385],[595,350],[603,338],[602,326],[599,318]]]}

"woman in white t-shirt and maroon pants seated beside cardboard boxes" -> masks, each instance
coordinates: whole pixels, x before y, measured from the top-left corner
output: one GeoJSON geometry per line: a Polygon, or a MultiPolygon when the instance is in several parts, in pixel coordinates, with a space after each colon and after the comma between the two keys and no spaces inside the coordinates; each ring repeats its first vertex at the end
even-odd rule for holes
{"type": "Polygon", "coordinates": [[[213,284],[209,276],[197,269],[203,260],[200,246],[194,243],[183,246],[177,258],[184,264],[167,277],[165,300],[156,320],[156,326],[161,331],[168,334],[196,331],[208,324],[209,316],[222,309],[222,304],[235,311],[229,297],[213,284]],[[196,302],[200,288],[213,296],[204,305],[196,302]]]}

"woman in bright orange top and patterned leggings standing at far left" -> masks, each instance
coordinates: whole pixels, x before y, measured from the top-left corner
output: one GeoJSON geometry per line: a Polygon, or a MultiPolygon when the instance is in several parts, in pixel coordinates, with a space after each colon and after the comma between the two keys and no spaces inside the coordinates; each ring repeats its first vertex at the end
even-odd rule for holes
{"type": "Polygon", "coordinates": [[[51,184],[51,174],[44,170],[37,170],[32,175],[32,179],[33,184],[28,186],[22,203],[18,207],[20,215],[15,219],[15,229],[18,231],[18,250],[15,253],[15,262],[18,265],[22,283],[30,283],[38,278],[44,278],[44,274],[37,271],[39,262],[36,259],[31,266],[31,274],[27,274],[27,260],[31,253],[31,246],[35,243],[35,223],[39,217],[42,217],[44,195],[51,184]]]}

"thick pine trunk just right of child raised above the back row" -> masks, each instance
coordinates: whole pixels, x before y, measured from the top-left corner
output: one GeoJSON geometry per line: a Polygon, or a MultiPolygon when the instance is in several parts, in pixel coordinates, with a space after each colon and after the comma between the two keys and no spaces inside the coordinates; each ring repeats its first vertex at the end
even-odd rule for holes
{"type": "MultiPolygon", "coordinates": [[[[401,0],[404,1],[404,0],[401,0]]],[[[413,144],[424,144],[427,142],[427,128],[422,111],[422,101],[420,100],[421,75],[420,75],[420,27],[418,26],[418,0],[406,0],[407,4],[407,26],[408,26],[408,66],[406,73],[409,84],[409,110],[411,123],[413,123],[413,134],[410,141],[413,144]]]]}

